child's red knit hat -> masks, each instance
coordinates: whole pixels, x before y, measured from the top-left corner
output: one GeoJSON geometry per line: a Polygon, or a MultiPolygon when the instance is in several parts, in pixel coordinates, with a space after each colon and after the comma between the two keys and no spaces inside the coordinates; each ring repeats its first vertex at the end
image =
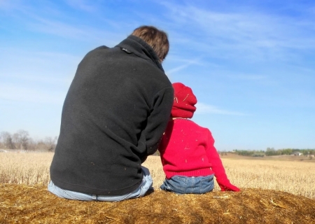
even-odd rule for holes
{"type": "Polygon", "coordinates": [[[173,83],[172,85],[174,88],[172,117],[193,118],[193,114],[196,111],[195,104],[197,104],[197,98],[193,94],[193,90],[183,85],[183,83],[173,83]]]}

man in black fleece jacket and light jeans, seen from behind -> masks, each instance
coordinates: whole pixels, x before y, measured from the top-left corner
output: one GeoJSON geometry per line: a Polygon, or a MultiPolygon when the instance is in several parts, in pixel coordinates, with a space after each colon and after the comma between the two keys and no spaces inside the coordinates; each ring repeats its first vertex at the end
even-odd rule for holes
{"type": "Polygon", "coordinates": [[[64,106],[48,190],[72,200],[119,201],[152,187],[141,167],[158,150],[174,90],[162,68],[167,34],[134,30],[78,64],[64,106]]]}

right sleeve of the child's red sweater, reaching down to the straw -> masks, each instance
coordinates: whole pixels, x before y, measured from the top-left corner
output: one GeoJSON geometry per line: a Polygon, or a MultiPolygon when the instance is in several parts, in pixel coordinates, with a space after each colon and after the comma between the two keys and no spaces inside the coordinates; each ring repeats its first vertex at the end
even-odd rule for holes
{"type": "Polygon", "coordinates": [[[214,138],[209,130],[207,130],[208,135],[208,144],[207,144],[207,157],[209,162],[211,162],[211,169],[214,172],[214,176],[216,176],[216,181],[218,182],[218,186],[220,186],[222,191],[232,190],[239,191],[239,188],[233,186],[230,183],[228,176],[225,174],[225,169],[223,167],[223,163],[221,161],[220,156],[218,155],[218,151],[214,147],[214,138]]]}

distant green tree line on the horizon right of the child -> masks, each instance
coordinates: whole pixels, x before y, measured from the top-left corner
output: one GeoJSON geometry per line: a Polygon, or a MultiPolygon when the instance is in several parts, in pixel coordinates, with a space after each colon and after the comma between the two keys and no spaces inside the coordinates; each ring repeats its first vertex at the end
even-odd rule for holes
{"type": "Polygon", "coordinates": [[[233,151],[237,155],[246,155],[254,157],[272,156],[272,155],[315,155],[315,149],[299,149],[299,148],[283,148],[274,149],[267,148],[266,151],[237,150],[233,151]]]}

